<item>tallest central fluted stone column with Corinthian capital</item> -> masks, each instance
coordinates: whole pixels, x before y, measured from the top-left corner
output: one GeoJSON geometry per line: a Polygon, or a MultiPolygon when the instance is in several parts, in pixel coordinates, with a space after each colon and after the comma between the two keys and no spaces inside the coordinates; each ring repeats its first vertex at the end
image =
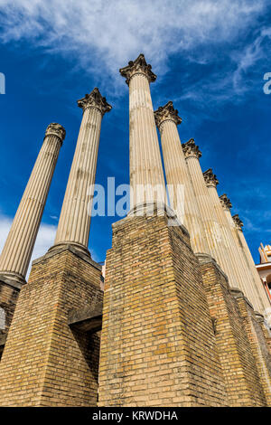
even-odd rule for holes
{"type": "Polygon", "coordinates": [[[143,54],[119,71],[129,86],[131,210],[140,203],[165,203],[164,172],[150,92],[150,82],[156,80],[156,75],[143,54]]]}

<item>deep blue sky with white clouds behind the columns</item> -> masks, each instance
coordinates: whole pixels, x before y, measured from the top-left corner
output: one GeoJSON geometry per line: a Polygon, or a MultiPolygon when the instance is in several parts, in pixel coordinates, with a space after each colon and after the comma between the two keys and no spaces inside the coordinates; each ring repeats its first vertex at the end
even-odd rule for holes
{"type": "MultiPolygon", "coordinates": [[[[51,246],[78,136],[76,100],[98,87],[103,118],[98,184],[128,183],[128,88],[118,69],[140,52],[152,64],[154,109],[173,100],[182,142],[194,137],[201,166],[243,220],[258,261],[270,243],[271,3],[179,0],[0,0],[0,247],[51,122],[66,128],[33,258],[51,246]]],[[[114,217],[91,222],[89,249],[105,260],[114,217]]]]}

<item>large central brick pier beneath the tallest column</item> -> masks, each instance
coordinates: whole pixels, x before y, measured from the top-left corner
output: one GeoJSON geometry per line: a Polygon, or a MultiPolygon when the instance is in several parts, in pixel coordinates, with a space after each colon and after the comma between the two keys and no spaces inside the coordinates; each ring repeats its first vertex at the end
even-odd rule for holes
{"type": "Polygon", "coordinates": [[[226,391],[199,263],[166,217],[113,226],[99,406],[221,406],[226,391]]]}

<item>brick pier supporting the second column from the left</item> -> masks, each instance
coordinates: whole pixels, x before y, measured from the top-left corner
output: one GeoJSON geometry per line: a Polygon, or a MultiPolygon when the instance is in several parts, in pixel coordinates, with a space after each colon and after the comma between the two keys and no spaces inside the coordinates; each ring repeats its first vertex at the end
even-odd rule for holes
{"type": "Polygon", "coordinates": [[[33,264],[0,363],[0,405],[96,405],[99,335],[71,332],[68,311],[100,301],[99,280],[99,266],[69,249],[33,264]]]}

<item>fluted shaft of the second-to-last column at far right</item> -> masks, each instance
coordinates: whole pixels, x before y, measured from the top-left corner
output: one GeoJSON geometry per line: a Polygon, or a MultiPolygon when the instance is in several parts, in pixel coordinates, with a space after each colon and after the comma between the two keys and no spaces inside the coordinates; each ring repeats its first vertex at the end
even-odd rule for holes
{"type": "Polygon", "coordinates": [[[248,299],[251,299],[253,307],[256,308],[259,313],[263,314],[266,317],[268,324],[271,326],[271,303],[266,294],[266,290],[262,284],[262,281],[258,275],[244,233],[241,228],[237,228],[229,209],[225,209],[225,214],[229,222],[229,228],[233,234],[240,255],[243,257],[247,269],[250,272],[250,276],[252,277],[252,283],[249,286],[250,293],[248,294],[248,299]]]}

